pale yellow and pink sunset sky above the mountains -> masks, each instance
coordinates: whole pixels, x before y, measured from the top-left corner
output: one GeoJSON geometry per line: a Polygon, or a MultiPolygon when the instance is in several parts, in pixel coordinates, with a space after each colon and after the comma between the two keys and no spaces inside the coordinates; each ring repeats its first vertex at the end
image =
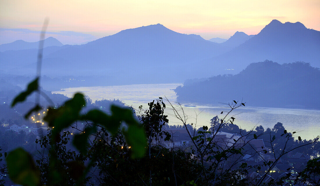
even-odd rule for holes
{"type": "Polygon", "coordinates": [[[0,0],[0,44],[47,37],[82,44],[121,30],[160,23],[204,39],[228,39],[236,31],[258,34],[271,20],[301,22],[320,30],[319,0],[0,0]]]}

